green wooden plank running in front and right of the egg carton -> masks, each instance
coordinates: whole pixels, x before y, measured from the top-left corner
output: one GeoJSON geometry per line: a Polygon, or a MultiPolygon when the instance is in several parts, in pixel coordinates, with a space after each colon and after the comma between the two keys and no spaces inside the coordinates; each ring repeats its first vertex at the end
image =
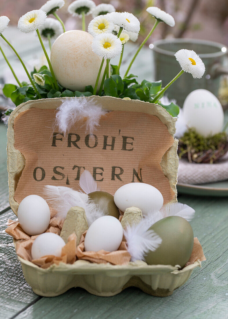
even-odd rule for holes
{"type": "Polygon", "coordinates": [[[136,288],[114,297],[97,297],[71,289],[55,298],[41,298],[15,317],[19,318],[226,318],[227,204],[226,198],[180,196],[196,210],[191,222],[207,261],[195,269],[173,295],[158,298],[136,288]]]}

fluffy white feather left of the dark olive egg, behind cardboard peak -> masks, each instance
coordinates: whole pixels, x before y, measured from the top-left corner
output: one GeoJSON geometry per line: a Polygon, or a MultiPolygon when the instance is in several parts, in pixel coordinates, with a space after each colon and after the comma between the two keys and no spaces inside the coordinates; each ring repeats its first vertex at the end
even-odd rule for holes
{"type": "Polygon", "coordinates": [[[97,204],[89,199],[87,194],[83,194],[69,187],[46,185],[44,195],[48,204],[55,208],[58,216],[66,218],[67,212],[71,207],[79,206],[85,209],[85,215],[90,226],[94,220],[104,216],[104,212],[97,204]]]}

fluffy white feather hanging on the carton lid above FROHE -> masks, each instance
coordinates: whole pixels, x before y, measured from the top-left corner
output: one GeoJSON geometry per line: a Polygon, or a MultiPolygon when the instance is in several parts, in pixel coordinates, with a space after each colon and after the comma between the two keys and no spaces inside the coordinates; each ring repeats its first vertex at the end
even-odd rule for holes
{"type": "Polygon", "coordinates": [[[99,126],[100,117],[107,113],[94,99],[87,100],[84,96],[64,100],[57,111],[54,127],[57,126],[64,136],[69,133],[72,125],[84,118],[86,132],[93,134],[99,126]]]}

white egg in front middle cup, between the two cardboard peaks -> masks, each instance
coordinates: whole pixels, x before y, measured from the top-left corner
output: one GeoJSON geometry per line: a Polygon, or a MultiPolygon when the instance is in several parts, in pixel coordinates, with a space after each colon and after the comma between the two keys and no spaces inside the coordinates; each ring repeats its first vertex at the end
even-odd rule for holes
{"type": "Polygon", "coordinates": [[[85,251],[115,251],[123,239],[123,227],[113,216],[96,219],[85,235],[85,251]]]}

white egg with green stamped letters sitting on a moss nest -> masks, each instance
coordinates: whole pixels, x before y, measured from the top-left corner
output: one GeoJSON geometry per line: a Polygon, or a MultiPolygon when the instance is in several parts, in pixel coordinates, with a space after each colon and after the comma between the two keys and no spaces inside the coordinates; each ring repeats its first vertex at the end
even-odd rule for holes
{"type": "Polygon", "coordinates": [[[220,133],[224,112],[217,97],[208,90],[198,89],[188,94],[183,105],[184,121],[190,128],[207,137],[220,133]]]}

